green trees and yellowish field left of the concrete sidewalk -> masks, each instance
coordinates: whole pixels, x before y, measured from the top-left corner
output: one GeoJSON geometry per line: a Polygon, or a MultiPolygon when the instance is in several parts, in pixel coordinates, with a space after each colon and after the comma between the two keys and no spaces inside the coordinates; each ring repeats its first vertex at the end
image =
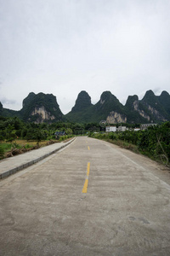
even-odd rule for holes
{"type": "Polygon", "coordinates": [[[71,128],[76,131],[78,127],[81,125],[59,122],[51,125],[47,123],[34,124],[26,123],[18,117],[0,117],[0,159],[9,151],[13,155],[20,154],[29,148],[38,148],[42,144],[57,142],[55,131],[64,131],[65,136],[59,137],[59,141],[64,141],[73,136],[71,128]]]}

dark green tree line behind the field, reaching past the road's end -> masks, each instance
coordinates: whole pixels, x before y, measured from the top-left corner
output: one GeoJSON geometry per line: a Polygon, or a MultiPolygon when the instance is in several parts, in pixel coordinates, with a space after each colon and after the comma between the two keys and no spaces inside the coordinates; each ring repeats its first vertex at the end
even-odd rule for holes
{"type": "Polygon", "coordinates": [[[56,131],[65,132],[65,136],[85,135],[91,131],[101,131],[97,123],[69,123],[56,122],[52,124],[33,122],[24,122],[18,117],[5,118],[0,117],[0,141],[12,142],[16,138],[41,141],[55,139],[56,131]]]}

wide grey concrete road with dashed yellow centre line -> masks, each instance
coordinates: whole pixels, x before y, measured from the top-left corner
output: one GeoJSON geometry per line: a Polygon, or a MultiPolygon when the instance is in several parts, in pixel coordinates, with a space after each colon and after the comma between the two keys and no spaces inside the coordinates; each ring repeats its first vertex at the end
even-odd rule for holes
{"type": "Polygon", "coordinates": [[[77,137],[0,182],[0,255],[170,255],[170,173],[77,137]]]}

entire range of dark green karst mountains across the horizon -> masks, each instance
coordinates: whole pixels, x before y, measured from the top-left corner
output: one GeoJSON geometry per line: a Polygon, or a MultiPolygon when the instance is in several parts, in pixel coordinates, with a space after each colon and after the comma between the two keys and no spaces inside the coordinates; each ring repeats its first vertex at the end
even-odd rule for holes
{"type": "Polygon", "coordinates": [[[0,115],[18,116],[20,119],[35,123],[57,121],[94,123],[101,120],[110,124],[159,123],[170,121],[170,95],[164,90],[160,96],[156,96],[152,90],[147,90],[142,100],[139,100],[137,95],[128,96],[123,106],[111,91],[104,91],[99,102],[92,104],[88,92],[82,90],[71,112],[64,115],[53,94],[31,92],[24,99],[20,111],[3,108],[0,102],[0,115]]]}

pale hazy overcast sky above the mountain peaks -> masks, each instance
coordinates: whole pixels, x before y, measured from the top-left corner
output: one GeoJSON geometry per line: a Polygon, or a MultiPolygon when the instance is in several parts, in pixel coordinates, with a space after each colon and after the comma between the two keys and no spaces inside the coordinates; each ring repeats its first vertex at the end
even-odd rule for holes
{"type": "Polygon", "coordinates": [[[123,104],[170,93],[170,0],[0,0],[0,101],[53,93],[68,113],[86,90],[123,104]]]}

